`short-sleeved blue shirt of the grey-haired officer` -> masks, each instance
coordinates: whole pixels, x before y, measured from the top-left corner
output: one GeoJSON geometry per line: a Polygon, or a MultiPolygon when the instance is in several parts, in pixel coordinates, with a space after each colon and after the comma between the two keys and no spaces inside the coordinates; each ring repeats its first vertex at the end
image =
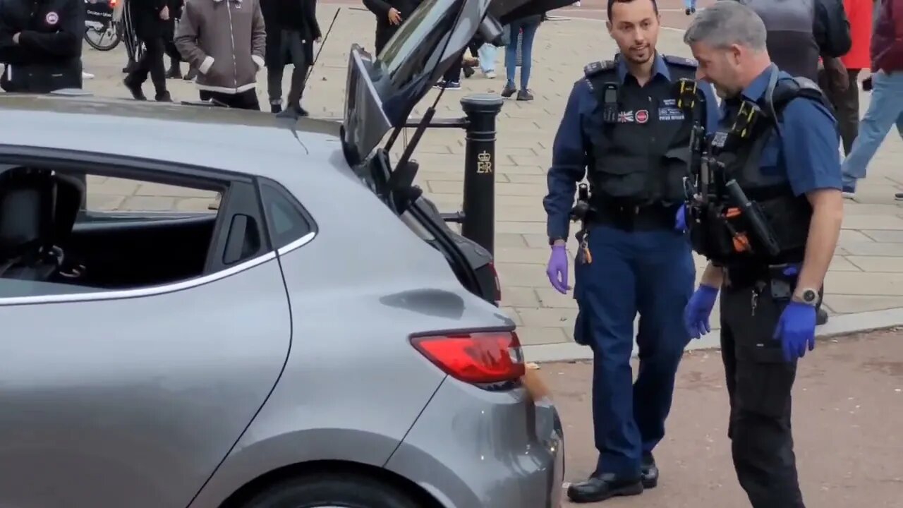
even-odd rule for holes
{"type": "MultiPolygon", "coordinates": [[[[751,101],[761,99],[774,69],[769,67],[759,74],[740,95],[751,101]]],[[[793,79],[787,72],[778,72],[778,80],[793,79]]],[[[722,118],[729,108],[727,101],[721,105],[722,118]]],[[[837,121],[824,105],[812,99],[793,99],[784,107],[778,127],[780,136],[773,131],[762,150],[759,166],[763,174],[787,174],[797,196],[842,188],[837,121]]]]}

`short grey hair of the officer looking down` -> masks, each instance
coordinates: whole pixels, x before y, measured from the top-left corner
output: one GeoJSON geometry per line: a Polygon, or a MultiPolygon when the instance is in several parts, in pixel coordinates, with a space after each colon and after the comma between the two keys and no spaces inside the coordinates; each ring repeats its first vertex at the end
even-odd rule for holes
{"type": "Polygon", "coordinates": [[[745,2],[719,0],[697,13],[684,32],[684,43],[704,42],[727,49],[733,44],[754,52],[768,51],[765,24],[745,2]]]}

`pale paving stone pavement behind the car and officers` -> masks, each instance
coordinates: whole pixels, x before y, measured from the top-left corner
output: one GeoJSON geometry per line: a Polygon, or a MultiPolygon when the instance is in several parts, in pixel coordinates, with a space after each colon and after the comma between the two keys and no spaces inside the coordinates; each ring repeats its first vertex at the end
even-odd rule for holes
{"type": "MultiPolygon", "coordinates": [[[[677,28],[686,21],[680,5],[667,0],[660,6],[670,27],[660,34],[659,50],[690,56],[681,40],[683,33],[677,28]]],[[[305,91],[305,107],[315,117],[340,118],[349,46],[351,42],[372,46],[373,16],[359,4],[322,4],[318,11],[321,23],[329,23],[337,8],[341,8],[339,20],[305,91]]],[[[541,200],[546,192],[545,172],[551,163],[555,130],[573,82],[582,76],[584,64],[610,58],[615,52],[605,25],[591,19],[603,16],[600,0],[587,0],[580,8],[556,11],[555,19],[541,26],[530,78],[535,100],[506,101],[498,122],[496,258],[502,303],[517,321],[522,342],[541,346],[530,348],[535,352],[547,352],[541,356],[573,356],[579,349],[571,347],[576,315],[572,296],[556,293],[545,276],[548,244],[541,200]],[[568,344],[571,346],[556,349],[568,344]],[[559,353],[548,353],[553,350],[559,353]]],[[[437,117],[461,116],[459,99],[470,93],[498,92],[504,85],[503,58],[503,52],[498,52],[497,79],[489,80],[478,73],[462,80],[461,91],[446,92],[437,117]]],[[[121,45],[112,52],[97,52],[86,46],[86,69],[96,75],[96,79],[86,81],[86,89],[99,96],[127,97],[121,84],[125,62],[121,45]]],[[[286,72],[286,90],[289,75],[286,72]]],[[[175,99],[197,98],[190,82],[169,83],[175,99]]],[[[265,104],[265,71],[259,74],[258,83],[258,94],[265,104]]],[[[150,91],[150,83],[145,87],[150,91]]],[[[431,92],[414,114],[423,113],[435,93],[431,92]]],[[[869,95],[863,94],[861,99],[864,112],[869,95]]],[[[415,152],[421,164],[418,183],[442,210],[461,207],[463,155],[461,132],[448,129],[428,131],[415,152]]],[[[825,306],[833,315],[903,307],[903,210],[893,196],[903,191],[903,174],[894,164],[895,160],[899,164],[901,155],[903,144],[892,132],[870,165],[869,178],[861,183],[856,201],[846,204],[840,248],[825,282],[825,306]]],[[[114,180],[91,182],[88,194],[89,202],[104,208],[202,209],[209,201],[209,195],[202,193],[184,195],[180,189],[114,180]]],[[[572,252],[574,247],[572,240],[572,252]]],[[[702,260],[697,259],[697,267],[703,267],[702,260]]],[[[717,316],[713,316],[712,323],[717,322],[717,316]]]]}

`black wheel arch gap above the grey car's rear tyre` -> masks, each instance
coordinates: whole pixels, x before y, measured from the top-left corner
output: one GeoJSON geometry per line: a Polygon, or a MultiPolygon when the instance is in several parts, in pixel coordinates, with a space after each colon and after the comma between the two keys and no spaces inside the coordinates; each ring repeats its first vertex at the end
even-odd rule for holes
{"type": "Polygon", "coordinates": [[[304,478],[314,475],[349,475],[363,476],[380,483],[396,488],[403,494],[409,495],[419,506],[423,508],[446,508],[433,494],[423,486],[415,484],[405,476],[386,469],[350,460],[311,460],[299,462],[288,466],[281,466],[263,475],[259,475],[247,484],[239,487],[233,494],[219,505],[219,508],[244,508],[258,494],[266,492],[277,484],[286,481],[304,478]]]}

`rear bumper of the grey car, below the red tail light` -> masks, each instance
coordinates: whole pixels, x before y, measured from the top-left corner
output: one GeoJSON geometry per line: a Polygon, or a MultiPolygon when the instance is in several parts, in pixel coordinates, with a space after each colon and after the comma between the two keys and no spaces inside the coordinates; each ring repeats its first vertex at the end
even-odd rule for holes
{"type": "Polygon", "coordinates": [[[386,464],[445,508],[558,508],[563,429],[551,400],[442,382],[386,464]]]}

